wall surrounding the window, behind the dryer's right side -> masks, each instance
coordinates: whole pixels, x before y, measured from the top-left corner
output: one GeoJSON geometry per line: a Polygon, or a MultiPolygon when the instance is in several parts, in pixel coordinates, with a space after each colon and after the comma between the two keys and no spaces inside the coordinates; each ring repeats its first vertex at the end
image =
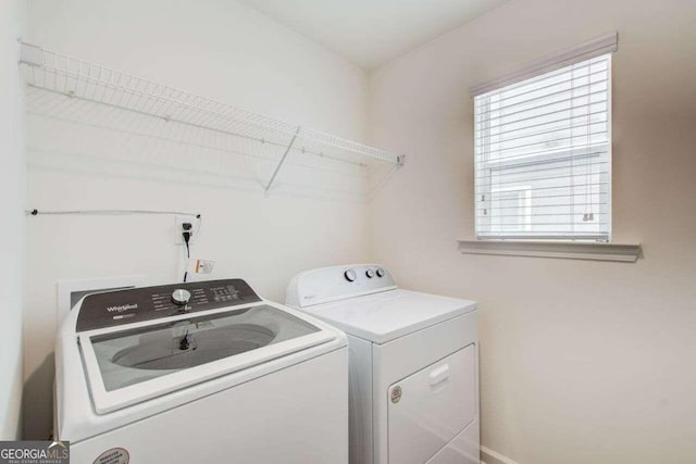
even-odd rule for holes
{"type": "Polygon", "coordinates": [[[371,208],[373,260],[481,308],[483,444],[524,464],[696,461],[696,8],[512,0],[371,74],[371,142],[408,154],[371,208]],[[469,87],[618,30],[613,238],[635,264],[462,255],[469,87]]]}

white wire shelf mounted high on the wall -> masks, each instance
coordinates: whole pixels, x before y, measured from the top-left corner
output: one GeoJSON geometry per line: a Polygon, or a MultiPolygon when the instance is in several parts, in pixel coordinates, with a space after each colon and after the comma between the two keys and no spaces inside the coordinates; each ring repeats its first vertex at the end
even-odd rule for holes
{"type": "MultiPolygon", "coordinates": [[[[371,167],[377,173],[398,167],[405,161],[405,156],[386,150],[241,110],[36,45],[21,42],[20,63],[32,90],[233,136],[240,140],[240,147],[261,143],[275,148],[281,155],[276,156],[276,165],[265,181],[265,192],[273,186],[286,159],[300,154],[358,168],[371,167]]],[[[38,97],[33,100],[38,101],[38,97]]],[[[373,172],[366,176],[374,177],[373,172]]]]}

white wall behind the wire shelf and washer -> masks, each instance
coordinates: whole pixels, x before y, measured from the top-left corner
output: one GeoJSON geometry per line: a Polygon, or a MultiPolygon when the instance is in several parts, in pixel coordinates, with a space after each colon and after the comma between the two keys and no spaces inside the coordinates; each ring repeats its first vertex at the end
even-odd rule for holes
{"type": "MultiPolygon", "coordinates": [[[[33,0],[27,27],[29,41],[52,50],[364,138],[365,73],[236,1],[33,0]]],[[[244,160],[222,176],[211,173],[234,155],[90,127],[83,123],[90,123],[95,110],[78,102],[47,111],[51,117],[33,114],[47,110],[39,100],[35,93],[27,98],[27,208],[200,211],[203,228],[192,256],[216,261],[211,277],[244,277],[275,300],[284,299],[287,281],[301,269],[368,258],[366,206],[360,201],[332,200],[322,191],[272,192],[266,199],[253,176],[241,173],[244,160]],[[83,116],[82,123],[64,121],[73,116],[83,116]]],[[[284,170],[281,184],[291,173],[284,170]]],[[[57,280],[134,274],[178,280],[183,250],[173,239],[170,217],[27,220],[27,438],[44,438],[51,426],[57,280]]]]}

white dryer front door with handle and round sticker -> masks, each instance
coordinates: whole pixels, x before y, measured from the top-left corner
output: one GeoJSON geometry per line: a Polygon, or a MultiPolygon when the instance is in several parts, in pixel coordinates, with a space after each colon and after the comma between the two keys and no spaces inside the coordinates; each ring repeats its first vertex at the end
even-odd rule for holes
{"type": "Polygon", "coordinates": [[[475,418],[475,361],[470,344],[389,387],[390,464],[424,463],[475,418]]]}

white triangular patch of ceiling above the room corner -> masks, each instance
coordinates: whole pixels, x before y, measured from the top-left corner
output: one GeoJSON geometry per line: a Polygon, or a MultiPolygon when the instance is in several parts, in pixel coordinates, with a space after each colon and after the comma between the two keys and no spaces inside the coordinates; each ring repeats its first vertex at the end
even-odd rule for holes
{"type": "Polygon", "coordinates": [[[507,0],[241,0],[366,70],[507,0]]]}

